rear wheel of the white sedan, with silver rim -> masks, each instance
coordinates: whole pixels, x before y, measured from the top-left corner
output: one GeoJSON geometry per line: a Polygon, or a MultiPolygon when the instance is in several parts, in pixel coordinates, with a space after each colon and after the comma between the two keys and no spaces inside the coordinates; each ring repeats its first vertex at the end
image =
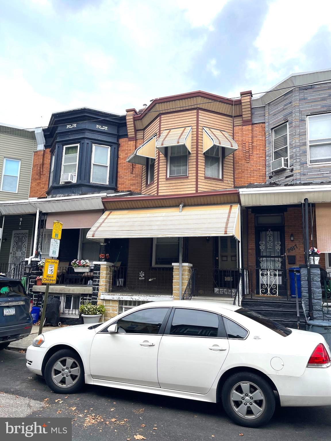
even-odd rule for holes
{"type": "Polygon", "coordinates": [[[222,404],[230,419],[240,426],[267,424],[275,412],[275,393],[269,383],[252,372],[231,375],[222,387],[222,404]]]}

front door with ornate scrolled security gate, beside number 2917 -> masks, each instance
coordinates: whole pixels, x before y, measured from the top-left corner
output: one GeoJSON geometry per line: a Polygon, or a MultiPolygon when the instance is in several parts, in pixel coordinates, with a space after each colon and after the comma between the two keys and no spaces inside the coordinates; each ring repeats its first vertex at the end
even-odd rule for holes
{"type": "Polygon", "coordinates": [[[256,288],[260,295],[286,295],[283,227],[256,227],[256,288]]]}

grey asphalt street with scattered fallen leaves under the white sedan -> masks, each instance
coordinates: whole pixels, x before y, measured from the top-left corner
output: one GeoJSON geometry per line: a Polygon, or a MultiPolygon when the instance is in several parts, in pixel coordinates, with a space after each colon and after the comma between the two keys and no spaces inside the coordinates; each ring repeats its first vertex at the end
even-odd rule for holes
{"type": "Polygon", "coordinates": [[[137,435],[147,441],[331,437],[331,406],[278,409],[267,426],[248,429],[230,422],[217,404],[90,385],[79,394],[57,395],[26,369],[24,353],[10,350],[0,352],[0,416],[71,417],[75,441],[135,441],[137,435]]]}

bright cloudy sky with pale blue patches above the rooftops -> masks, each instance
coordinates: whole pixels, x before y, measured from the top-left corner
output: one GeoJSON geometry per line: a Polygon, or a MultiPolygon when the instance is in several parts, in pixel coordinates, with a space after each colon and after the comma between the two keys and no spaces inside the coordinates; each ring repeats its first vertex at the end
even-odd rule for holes
{"type": "Polygon", "coordinates": [[[331,67],[330,0],[0,0],[0,123],[237,97],[331,67]]]}

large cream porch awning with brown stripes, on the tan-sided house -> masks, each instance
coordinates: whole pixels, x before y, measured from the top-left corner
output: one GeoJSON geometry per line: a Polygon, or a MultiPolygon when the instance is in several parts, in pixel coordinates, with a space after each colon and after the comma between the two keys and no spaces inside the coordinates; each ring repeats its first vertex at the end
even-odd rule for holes
{"type": "Polygon", "coordinates": [[[235,236],[240,238],[239,204],[106,211],[87,239],[235,236]]]}

